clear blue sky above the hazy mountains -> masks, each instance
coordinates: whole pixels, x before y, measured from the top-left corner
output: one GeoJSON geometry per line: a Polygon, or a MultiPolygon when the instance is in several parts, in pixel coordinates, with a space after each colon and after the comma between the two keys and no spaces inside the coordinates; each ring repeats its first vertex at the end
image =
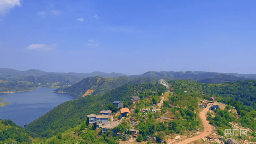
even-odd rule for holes
{"type": "Polygon", "coordinates": [[[256,74],[256,1],[0,0],[0,67],[256,74]]]}

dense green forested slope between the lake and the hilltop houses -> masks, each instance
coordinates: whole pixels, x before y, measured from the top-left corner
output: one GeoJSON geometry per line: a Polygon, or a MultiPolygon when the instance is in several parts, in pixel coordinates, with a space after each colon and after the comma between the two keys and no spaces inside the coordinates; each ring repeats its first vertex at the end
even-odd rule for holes
{"type": "MultiPolygon", "coordinates": [[[[88,80],[97,81],[97,77],[88,80]]],[[[157,83],[124,84],[104,95],[89,95],[74,101],[67,101],[30,123],[25,129],[34,137],[49,138],[59,131],[65,131],[81,124],[86,120],[87,114],[98,114],[99,111],[106,108],[107,104],[115,100],[127,101],[131,96],[145,97],[145,95],[152,94],[150,91],[159,91],[161,94],[165,90],[165,86],[157,83]]]]}

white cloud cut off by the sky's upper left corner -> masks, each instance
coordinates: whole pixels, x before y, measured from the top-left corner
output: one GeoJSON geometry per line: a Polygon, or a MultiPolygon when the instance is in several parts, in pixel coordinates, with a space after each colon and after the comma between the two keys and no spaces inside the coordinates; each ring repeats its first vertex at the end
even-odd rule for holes
{"type": "Polygon", "coordinates": [[[15,6],[21,6],[21,0],[0,0],[0,15],[5,15],[15,6]]]}

